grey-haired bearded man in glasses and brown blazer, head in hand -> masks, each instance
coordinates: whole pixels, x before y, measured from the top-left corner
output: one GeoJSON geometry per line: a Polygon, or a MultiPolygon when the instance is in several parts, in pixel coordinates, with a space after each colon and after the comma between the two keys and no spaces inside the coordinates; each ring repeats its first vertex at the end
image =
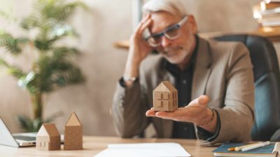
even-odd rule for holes
{"type": "Polygon", "coordinates": [[[176,0],[148,1],[144,15],[113,98],[118,135],[139,135],[153,123],[157,137],[250,140],[254,87],[246,47],[197,36],[195,17],[176,0]],[[153,50],[159,54],[148,55],[153,50]],[[179,109],[155,112],[153,89],[165,80],[178,89],[179,109]]]}

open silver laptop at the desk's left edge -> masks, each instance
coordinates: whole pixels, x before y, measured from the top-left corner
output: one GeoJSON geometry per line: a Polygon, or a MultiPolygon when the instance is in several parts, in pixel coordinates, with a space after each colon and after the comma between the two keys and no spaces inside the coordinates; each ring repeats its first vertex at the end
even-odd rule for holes
{"type": "MultiPolygon", "coordinates": [[[[16,133],[11,134],[10,130],[0,117],[0,144],[11,147],[29,147],[36,145],[37,133],[16,133]]],[[[61,142],[64,142],[64,136],[61,135],[61,142]]]]}

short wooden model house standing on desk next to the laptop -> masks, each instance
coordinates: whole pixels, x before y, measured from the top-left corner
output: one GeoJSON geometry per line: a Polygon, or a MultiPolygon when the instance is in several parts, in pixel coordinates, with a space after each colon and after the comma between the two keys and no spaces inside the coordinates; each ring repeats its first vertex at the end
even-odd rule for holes
{"type": "Polygon", "coordinates": [[[55,124],[43,124],[36,136],[36,149],[52,151],[60,149],[60,134],[55,124]]]}

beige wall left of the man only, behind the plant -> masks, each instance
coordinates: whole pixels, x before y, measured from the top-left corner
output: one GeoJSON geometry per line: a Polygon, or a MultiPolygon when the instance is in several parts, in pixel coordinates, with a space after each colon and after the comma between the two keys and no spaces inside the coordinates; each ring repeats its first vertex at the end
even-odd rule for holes
{"type": "MultiPolygon", "coordinates": [[[[85,84],[59,89],[45,96],[44,117],[55,112],[63,112],[63,116],[55,119],[59,131],[71,111],[76,111],[83,122],[85,135],[115,135],[112,119],[109,114],[111,100],[116,82],[123,72],[126,53],[112,45],[116,40],[126,39],[132,32],[131,1],[85,1],[90,10],[79,10],[73,18],[73,25],[80,34],[80,39],[73,45],[78,45],[83,52],[76,62],[87,77],[85,84]],[[122,3],[122,5],[120,5],[122,3]]],[[[13,6],[13,13],[17,17],[28,15],[31,10],[31,0],[23,3],[19,0],[0,1],[0,9],[13,6]]],[[[0,28],[21,34],[16,27],[10,27],[0,21],[0,28]]],[[[1,56],[8,57],[1,53],[1,56]]],[[[22,59],[12,62],[25,66],[30,57],[24,55],[22,59]]],[[[26,91],[16,85],[16,80],[4,73],[0,68],[0,116],[6,121],[13,133],[20,131],[15,116],[24,114],[31,117],[31,105],[26,91]]]]}

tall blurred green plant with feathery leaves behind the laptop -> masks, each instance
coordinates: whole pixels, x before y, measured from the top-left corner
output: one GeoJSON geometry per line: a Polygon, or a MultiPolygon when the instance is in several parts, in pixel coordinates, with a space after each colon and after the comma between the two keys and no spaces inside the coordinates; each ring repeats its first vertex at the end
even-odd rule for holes
{"type": "Polygon", "coordinates": [[[18,23],[27,36],[36,30],[34,38],[14,37],[6,31],[0,31],[0,47],[5,47],[6,52],[18,56],[29,50],[37,56],[29,71],[11,65],[0,57],[0,66],[6,67],[8,73],[18,79],[18,85],[30,94],[34,118],[18,117],[22,128],[27,131],[37,131],[43,122],[52,121],[58,116],[54,114],[43,120],[44,94],[85,80],[83,73],[73,63],[73,57],[79,51],[75,47],[57,44],[66,37],[77,37],[69,20],[78,7],[85,8],[85,4],[80,1],[36,0],[31,14],[18,23]]]}

